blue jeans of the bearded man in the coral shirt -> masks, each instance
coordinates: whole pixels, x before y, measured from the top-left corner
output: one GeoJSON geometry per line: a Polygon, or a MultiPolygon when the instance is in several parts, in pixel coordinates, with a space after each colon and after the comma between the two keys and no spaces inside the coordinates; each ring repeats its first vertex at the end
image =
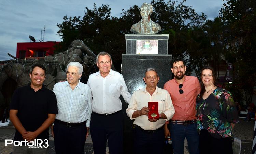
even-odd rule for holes
{"type": "Polygon", "coordinates": [[[174,154],[184,153],[185,137],[188,142],[188,150],[190,154],[199,154],[198,143],[199,135],[197,133],[197,124],[173,124],[170,122],[170,133],[172,138],[172,147],[174,154]]]}

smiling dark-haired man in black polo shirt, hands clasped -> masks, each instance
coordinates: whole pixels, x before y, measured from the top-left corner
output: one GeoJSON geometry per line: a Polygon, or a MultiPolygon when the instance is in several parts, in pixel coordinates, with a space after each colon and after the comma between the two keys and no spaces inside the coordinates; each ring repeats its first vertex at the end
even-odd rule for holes
{"type": "Polygon", "coordinates": [[[14,154],[48,153],[49,126],[54,122],[58,110],[55,94],[43,85],[45,71],[43,65],[31,66],[29,73],[31,83],[17,88],[12,96],[10,120],[16,128],[14,141],[23,141],[22,146],[13,147],[14,154]],[[33,142],[41,145],[31,145],[33,142]]]}

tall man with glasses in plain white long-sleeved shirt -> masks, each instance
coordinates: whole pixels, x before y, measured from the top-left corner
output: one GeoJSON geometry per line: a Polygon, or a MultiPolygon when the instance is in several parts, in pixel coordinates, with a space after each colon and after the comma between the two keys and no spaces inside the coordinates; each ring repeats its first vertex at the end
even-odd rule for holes
{"type": "Polygon", "coordinates": [[[105,154],[106,140],[110,154],[123,153],[123,116],[120,95],[128,103],[128,92],[123,76],[111,69],[111,56],[100,52],[96,58],[99,72],[91,74],[87,84],[93,95],[90,132],[94,154],[105,154]]]}

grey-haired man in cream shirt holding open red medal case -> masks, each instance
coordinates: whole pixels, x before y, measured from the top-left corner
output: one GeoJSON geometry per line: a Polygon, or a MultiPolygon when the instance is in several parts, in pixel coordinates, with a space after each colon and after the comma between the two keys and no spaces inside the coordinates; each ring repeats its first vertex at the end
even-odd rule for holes
{"type": "Polygon", "coordinates": [[[163,153],[163,125],[174,115],[174,107],[169,93],[157,87],[159,76],[153,68],[148,68],[143,80],[145,88],[135,91],[126,113],[135,119],[135,153],[163,153]]]}

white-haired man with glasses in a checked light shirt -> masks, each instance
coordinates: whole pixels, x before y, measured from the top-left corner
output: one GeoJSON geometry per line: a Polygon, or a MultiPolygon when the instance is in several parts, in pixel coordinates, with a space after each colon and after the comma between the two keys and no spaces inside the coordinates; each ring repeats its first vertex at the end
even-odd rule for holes
{"type": "Polygon", "coordinates": [[[57,98],[56,115],[52,135],[56,154],[83,154],[89,135],[91,117],[91,89],[81,83],[83,66],[70,62],[67,66],[67,81],[54,85],[57,98]]]}

